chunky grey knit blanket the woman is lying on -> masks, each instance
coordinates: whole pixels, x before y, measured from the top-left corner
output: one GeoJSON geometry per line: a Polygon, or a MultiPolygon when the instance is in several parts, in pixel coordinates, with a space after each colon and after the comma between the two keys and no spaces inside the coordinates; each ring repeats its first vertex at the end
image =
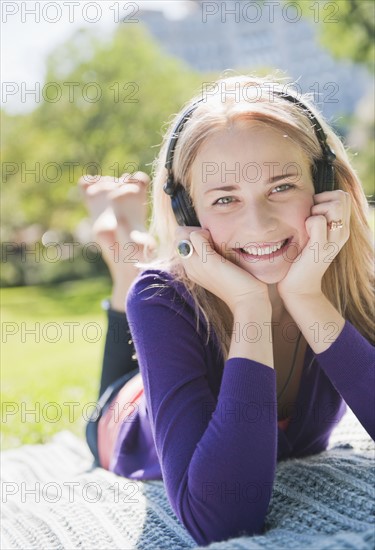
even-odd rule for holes
{"type": "MultiPolygon", "coordinates": [[[[348,410],[327,451],[278,463],[263,535],[208,548],[373,550],[374,451],[348,410]]],[[[85,442],[70,432],[4,451],[1,548],[198,548],[162,481],[135,482],[91,464],[85,442]]]]}

